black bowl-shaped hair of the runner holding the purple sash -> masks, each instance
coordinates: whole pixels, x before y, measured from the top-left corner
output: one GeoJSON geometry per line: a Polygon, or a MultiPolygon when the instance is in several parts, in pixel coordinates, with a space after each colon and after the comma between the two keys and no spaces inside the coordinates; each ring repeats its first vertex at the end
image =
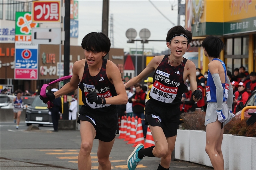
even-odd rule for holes
{"type": "Polygon", "coordinates": [[[111,42],[106,34],[92,32],[84,36],[81,46],[88,51],[106,52],[108,54],[111,42]]]}

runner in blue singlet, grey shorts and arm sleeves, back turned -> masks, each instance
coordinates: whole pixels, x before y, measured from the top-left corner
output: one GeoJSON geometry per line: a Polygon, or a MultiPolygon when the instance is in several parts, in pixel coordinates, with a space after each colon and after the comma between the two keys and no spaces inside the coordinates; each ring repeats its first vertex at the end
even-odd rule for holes
{"type": "Polygon", "coordinates": [[[206,147],[214,169],[224,170],[224,159],[221,152],[223,126],[235,115],[231,112],[233,88],[227,78],[227,70],[218,57],[224,48],[224,43],[214,36],[204,39],[202,46],[204,55],[208,57],[208,78],[206,85],[207,109],[205,115],[206,147]]]}

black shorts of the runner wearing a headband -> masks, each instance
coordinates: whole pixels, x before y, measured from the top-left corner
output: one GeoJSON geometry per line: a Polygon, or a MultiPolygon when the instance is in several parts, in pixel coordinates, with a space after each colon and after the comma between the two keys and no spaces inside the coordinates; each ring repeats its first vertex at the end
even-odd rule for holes
{"type": "Polygon", "coordinates": [[[177,135],[180,118],[180,106],[159,105],[154,100],[149,99],[145,106],[145,124],[159,126],[163,129],[165,137],[177,135]]]}

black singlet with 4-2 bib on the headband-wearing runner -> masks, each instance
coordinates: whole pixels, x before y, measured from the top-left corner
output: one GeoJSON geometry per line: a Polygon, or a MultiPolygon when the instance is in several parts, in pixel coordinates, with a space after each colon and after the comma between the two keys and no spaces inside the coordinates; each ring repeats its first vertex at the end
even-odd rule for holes
{"type": "Polygon", "coordinates": [[[188,87],[183,80],[184,67],[188,59],[183,58],[180,65],[172,67],[168,63],[168,56],[164,55],[163,60],[158,65],[150,91],[150,99],[154,99],[162,105],[178,104],[183,92],[188,87]]]}

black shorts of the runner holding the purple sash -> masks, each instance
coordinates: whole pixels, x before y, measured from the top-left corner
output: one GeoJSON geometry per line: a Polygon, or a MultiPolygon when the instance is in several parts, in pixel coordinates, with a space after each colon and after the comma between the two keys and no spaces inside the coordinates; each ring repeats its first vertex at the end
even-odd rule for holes
{"type": "Polygon", "coordinates": [[[77,123],[82,121],[91,122],[96,130],[95,139],[103,142],[111,142],[118,134],[118,116],[116,109],[108,113],[88,113],[85,106],[79,111],[77,123]]]}

